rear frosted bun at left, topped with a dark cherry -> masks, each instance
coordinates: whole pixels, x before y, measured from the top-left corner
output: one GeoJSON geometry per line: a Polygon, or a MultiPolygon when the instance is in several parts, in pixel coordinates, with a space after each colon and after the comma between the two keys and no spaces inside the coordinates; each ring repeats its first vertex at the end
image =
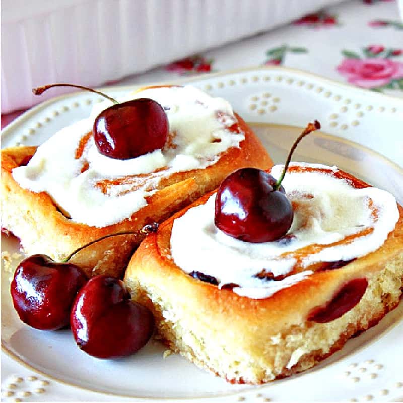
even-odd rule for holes
{"type": "Polygon", "coordinates": [[[273,164],[222,98],[191,86],[146,87],[125,97],[94,105],[88,119],[39,147],[2,150],[2,229],[26,254],[63,261],[93,240],[131,232],[70,260],[88,277],[120,277],[144,227],[155,228],[234,169],[273,164]]]}

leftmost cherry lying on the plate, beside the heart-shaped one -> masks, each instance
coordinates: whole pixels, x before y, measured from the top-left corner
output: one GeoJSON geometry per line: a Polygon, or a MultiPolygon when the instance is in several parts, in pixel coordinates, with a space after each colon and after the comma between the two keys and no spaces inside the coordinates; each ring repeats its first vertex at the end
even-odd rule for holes
{"type": "Polygon", "coordinates": [[[11,282],[11,297],[20,319],[40,330],[69,325],[70,309],[87,277],[70,263],[56,263],[45,255],[23,260],[11,282]]]}

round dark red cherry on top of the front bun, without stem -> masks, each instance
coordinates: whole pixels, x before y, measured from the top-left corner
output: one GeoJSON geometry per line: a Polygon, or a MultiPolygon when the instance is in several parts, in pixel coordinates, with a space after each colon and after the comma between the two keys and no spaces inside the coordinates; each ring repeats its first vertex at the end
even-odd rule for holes
{"type": "Polygon", "coordinates": [[[233,238],[268,242],[287,233],[293,209],[284,188],[273,191],[276,179],[256,168],[242,168],[221,183],[214,223],[233,238]]]}

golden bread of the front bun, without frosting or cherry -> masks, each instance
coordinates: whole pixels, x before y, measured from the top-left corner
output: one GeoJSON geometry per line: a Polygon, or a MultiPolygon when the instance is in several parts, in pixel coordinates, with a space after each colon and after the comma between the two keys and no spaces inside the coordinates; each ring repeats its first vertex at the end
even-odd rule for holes
{"type": "Polygon", "coordinates": [[[400,206],[395,229],[376,251],[256,300],[194,279],[172,261],[173,220],[209,196],[148,235],[124,277],[132,298],[153,311],[162,341],[199,367],[231,383],[260,384],[283,378],[341,349],[349,338],[374,326],[398,305],[403,292],[400,206]],[[366,278],[368,287],[354,308],[327,323],[307,319],[312,309],[326,306],[343,285],[357,278],[366,278]]]}

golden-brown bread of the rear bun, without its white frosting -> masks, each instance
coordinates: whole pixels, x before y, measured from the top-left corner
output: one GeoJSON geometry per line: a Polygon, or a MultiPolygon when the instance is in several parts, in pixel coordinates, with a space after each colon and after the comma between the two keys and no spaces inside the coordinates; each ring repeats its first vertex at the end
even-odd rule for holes
{"type": "Polygon", "coordinates": [[[46,193],[22,189],[11,171],[26,156],[34,154],[35,147],[14,147],[2,150],[2,227],[21,239],[27,254],[44,253],[55,260],[63,260],[80,246],[108,234],[133,231],[135,235],[121,235],[102,241],[102,245],[86,248],[72,259],[89,276],[107,273],[120,276],[133,248],[144,238],[140,230],[153,222],[161,222],[174,212],[211,191],[234,169],[273,165],[266,150],[237,116],[245,140],[239,148],[222,153],[219,161],[206,169],[178,172],[164,179],[163,188],[148,200],[148,205],[118,224],[103,228],[90,227],[66,218],[46,193]]]}

